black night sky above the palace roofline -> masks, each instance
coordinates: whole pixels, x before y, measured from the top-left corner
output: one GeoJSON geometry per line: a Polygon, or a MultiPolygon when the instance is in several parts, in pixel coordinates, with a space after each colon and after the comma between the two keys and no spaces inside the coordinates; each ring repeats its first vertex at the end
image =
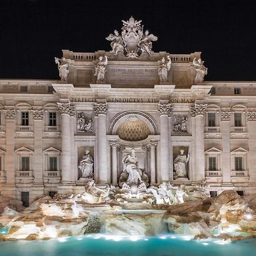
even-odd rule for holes
{"type": "Polygon", "coordinates": [[[61,49],[109,51],[122,19],[142,19],[155,52],[202,52],[208,81],[256,81],[255,0],[0,1],[0,79],[59,79],[61,49]]]}

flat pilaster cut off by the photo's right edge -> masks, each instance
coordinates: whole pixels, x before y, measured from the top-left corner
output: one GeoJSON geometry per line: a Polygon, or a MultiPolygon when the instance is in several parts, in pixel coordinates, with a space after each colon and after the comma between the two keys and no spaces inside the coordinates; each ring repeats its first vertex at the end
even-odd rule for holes
{"type": "Polygon", "coordinates": [[[256,112],[247,112],[249,152],[248,166],[251,183],[256,183],[256,112]]]}

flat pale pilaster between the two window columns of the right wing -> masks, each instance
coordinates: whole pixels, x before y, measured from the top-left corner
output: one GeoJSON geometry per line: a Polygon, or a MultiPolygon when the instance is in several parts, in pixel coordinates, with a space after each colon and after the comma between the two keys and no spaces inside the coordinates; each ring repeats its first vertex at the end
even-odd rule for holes
{"type": "Polygon", "coordinates": [[[230,118],[232,112],[221,112],[221,136],[222,136],[222,178],[223,183],[230,184],[230,118]]]}

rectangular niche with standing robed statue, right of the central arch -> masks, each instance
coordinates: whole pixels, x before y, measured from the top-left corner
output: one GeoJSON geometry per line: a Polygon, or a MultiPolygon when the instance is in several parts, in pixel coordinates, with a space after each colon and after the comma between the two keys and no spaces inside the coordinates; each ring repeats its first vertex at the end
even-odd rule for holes
{"type": "Polygon", "coordinates": [[[189,149],[184,146],[173,147],[174,179],[188,179],[189,149]]]}

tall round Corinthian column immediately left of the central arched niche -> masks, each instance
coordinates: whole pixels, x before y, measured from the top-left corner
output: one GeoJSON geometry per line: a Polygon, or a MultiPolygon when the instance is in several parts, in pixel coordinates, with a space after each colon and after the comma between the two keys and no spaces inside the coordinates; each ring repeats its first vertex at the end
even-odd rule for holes
{"type": "Polygon", "coordinates": [[[98,117],[98,129],[96,129],[96,139],[98,148],[98,179],[99,183],[108,183],[108,158],[106,142],[106,113],[108,104],[95,103],[93,106],[94,113],[98,117]]]}

